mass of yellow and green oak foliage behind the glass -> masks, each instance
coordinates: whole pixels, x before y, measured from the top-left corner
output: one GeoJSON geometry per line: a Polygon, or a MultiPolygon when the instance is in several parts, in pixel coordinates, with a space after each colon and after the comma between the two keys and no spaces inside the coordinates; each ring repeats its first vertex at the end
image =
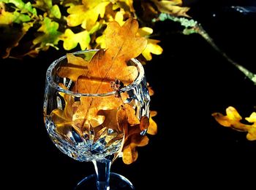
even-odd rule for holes
{"type": "Polygon", "coordinates": [[[106,25],[112,20],[122,25],[129,17],[135,17],[140,21],[138,36],[148,39],[142,55],[151,60],[151,54],[162,53],[159,41],[151,39],[152,20],[160,13],[187,17],[189,8],[181,7],[181,0],[140,0],[136,4],[143,12],[140,17],[132,0],[0,0],[0,55],[35,57],[49,47],[104,48],[106,25]]]}

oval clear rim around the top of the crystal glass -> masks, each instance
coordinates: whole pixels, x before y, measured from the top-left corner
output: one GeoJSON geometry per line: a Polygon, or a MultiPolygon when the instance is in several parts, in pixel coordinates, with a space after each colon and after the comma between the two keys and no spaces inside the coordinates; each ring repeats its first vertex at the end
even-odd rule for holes
{"type": "MultiPolygon", "coordinates": [[[[80,50],[77,52],[72,52],[73,55],[78,55],[84,52],[97,52],[97,49],[94,50],[80,50]]],[[[116,95],[117,91],[111,91],[111,92],[105,92],[105,93],[80,93],[80,92],[73,92],[71,90],[66,90],[63,87],[60,87],[59,84],[57,84],[56,82],[53,81],[53,68],[56,67],[56,65],[61,61],[64,60],[65,58],[67,58],[67,55],[62,56],[61,58],[54,60],[53,63],[50,64],[50,66],[48,67],[47,71],[46,71],[46,79],[48,81],[48,84],[50,85],[50,87],[55,88],[56,90],[60,91],[60,92],[64,92],[65,94],[68,95],[74,95],[74,96],[86,96],[86,97],[103,97],[103,96],[109,96],[109,95],[116,95]]],[[[142,66],[142,64],[140,63],[139,60],[132,58],[130,59],[132,60],[133,63],[135,63],[136,68],[138,69],[138,76],[136,77],[135,81],[132,82],[131,84],[128,84],[125,87],[122,87],[121,90],[119,90],[118,92],[122,93],[122,92],[127,92],[129,90],[131,90],[132,88],[138,86],[138,84],[140,84],[140,82],[142,82],[143,77],[144,77],[144,68],[142,66]]]]}

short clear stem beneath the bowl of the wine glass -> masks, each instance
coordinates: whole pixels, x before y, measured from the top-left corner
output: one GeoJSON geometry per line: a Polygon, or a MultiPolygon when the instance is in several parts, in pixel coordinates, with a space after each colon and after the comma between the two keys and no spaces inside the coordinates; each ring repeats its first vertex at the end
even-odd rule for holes
{"type": "Polygon", "coordinates": [[[94,168],[96,171],[96,183],[98,190],[109,190],[110,181],[110,159],[93,160],[94,168]]]}

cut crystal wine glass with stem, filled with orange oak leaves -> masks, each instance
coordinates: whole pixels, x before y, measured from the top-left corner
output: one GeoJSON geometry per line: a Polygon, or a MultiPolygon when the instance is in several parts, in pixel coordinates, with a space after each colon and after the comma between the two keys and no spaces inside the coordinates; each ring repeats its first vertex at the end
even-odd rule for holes
{"type": "MultiPolygon", "coordinates": [[[[90,61],[96,52],[85,50],[73,55],[90,61]]],[[[132,107],[138,119],[149,116],[150,98],[143,66],[136,59],[129,60],[127,65],[138,70],[132,83],[119,84],[118,90],[97,94],[74,92],[74,81],[59,76],[59,69],[68,66],[66,55],[55,60],[47,70],[43,111],[50,139],[69,157],[80,162],[93,162],[96,170],[96,175],[84,178],[76,189],[134,189],[127,178],[110,173],[110,165],[122,156],[127,138],[129,126],[124,121],[127,118],[120,114],[124,106],[132,107]]],[[[77,72],[77,69],[70,72],[77,72]]],[[[111,82],[117,83],[116,79],[111,82]]],[[[140,131],[140,135],[145,134],[146,130],[140,131]]]]}

